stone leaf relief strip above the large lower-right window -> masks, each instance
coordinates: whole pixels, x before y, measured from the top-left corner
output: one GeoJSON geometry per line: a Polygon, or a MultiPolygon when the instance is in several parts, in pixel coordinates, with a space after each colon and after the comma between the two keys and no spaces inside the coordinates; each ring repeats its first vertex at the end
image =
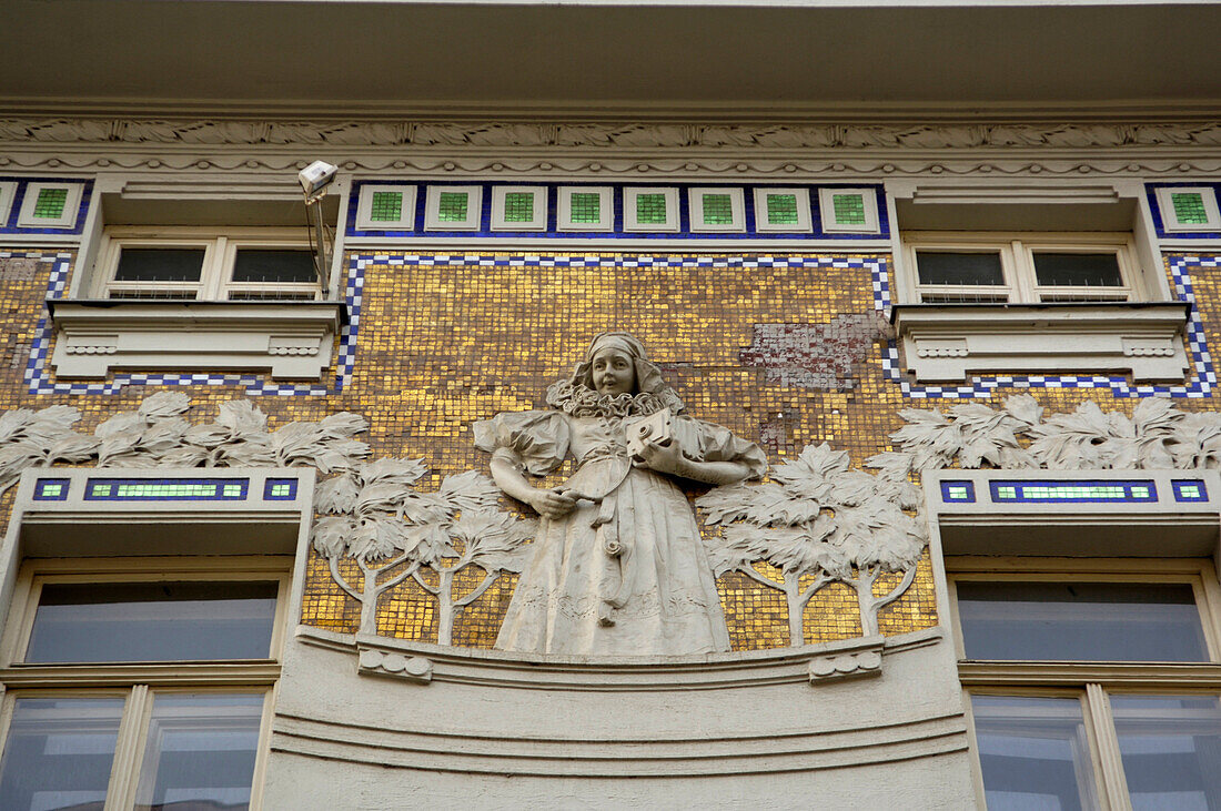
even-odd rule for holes
{"type": "Polygon", "coordinates": [[[1132,417],[1084,401],[1044,417],[1029,395],[1001,411],[962,404],[940,411],[905,409],[908,424],[890,438],[895,451],[866,465],[894,474],[952,467],[1048,470],[1190,470],[1221,467],[1221,415],[1187,413],[1166,398],[1142,399],[1132,417]]]}

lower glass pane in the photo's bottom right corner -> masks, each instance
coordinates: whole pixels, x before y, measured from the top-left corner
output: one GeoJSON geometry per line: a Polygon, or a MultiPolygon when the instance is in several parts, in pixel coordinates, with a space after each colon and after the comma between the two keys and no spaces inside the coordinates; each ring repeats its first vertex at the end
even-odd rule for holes
{"type": "Polygon", "coordinates": [[[1221,809],[1216,696],[1112,695],[1111,711],[1136,811],[1221,809]]]}

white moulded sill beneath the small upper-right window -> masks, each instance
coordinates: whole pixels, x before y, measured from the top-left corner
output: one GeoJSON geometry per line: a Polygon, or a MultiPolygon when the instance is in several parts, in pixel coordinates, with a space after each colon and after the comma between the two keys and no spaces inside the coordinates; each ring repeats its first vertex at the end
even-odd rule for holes
{"type": "Polygon", "coordinates": [[[1181,301],[906,304],[895,305],[891,321],[919,382],[1015,372],[1182,382],[1187,312],[1181,301]]]}

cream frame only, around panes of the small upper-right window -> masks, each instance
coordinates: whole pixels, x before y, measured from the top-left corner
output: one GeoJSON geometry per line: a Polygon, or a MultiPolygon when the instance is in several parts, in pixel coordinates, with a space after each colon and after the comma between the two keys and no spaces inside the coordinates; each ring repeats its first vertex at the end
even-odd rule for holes
{"type": "MultiPolygon", "coordinates": [[[[1040,305],[1067,301],[1081,305],[1125,304],[1149,301],[1136,240],[1128,232],[969,232],[969,230],[910,230],[901,234],[904,267],[904,298],[913,304],[926,302],[926,295],[1005,296],[998,304],[1040,305]],[[1004,285],[921,284],[917,252],[991,254],[1000,255],[1004,285]],[[1106,288],[1106,298],[1054,299],[1051,296],[1087,295],[1099,288],[1040,285],[1034,270],[1035,252],[1103,254],[1114,251],[1123,285],[1106,288]],[[1044,298],[1048,296],[1048,298],[1044,298]]],[[[969,298],[952,304],[979,304],[969,298]]],[[[988,304],[988,302],[984,302],[988,304]]]]}

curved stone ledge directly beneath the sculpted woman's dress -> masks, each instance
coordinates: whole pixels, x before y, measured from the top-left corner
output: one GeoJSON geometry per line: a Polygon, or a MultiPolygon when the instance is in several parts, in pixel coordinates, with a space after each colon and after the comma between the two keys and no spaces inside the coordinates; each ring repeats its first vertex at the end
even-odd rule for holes
{"type": "Polygon", "coordinates": [[[935,644],[941,635],[941,628],[934,627],[900,637],[861,637],[802,648],[696,656],[596,657],[451,648],[365,634],[353,637],[306,626],[297,631],[298,639],[305,644],[358,654],[363,674],[414,683],[602,691],[714,690],[877,676],[884,670],[886,656],[935,644]]]}

